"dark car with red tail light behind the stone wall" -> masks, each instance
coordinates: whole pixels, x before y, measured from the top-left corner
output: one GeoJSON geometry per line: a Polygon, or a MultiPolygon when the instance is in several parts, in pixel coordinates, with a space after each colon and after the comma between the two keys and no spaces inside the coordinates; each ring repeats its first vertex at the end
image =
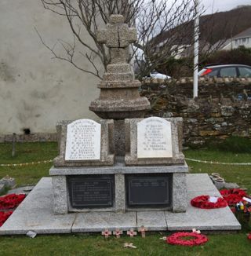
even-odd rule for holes
{"type": "Polygon", "coordinates": [[[251,67],[241,64],[210,65],[202,68],[198,76],[216,76],[216,77],[250,77],[251,67]]]}

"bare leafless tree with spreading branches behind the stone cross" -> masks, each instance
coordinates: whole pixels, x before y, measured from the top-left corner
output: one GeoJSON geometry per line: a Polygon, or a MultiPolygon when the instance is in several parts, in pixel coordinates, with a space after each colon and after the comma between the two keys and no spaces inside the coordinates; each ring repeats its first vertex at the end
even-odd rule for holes
{"type": "MultiPolygon", "coordinates": [[[[55,58],[67,60],[81,71],[96,75],[101,79],[97,64],[106,70],[110,62],[106,47],[97,41],[96,31],[109,22],[111,14],[122,14],[125,22],[136,26],[138,41],[133,44],[128,61],[135,60],[140,68],[139,77],[148,75],[159,64],[165,64],[169,57],[180,53],[180,47],[191,45],[191,20],[195,18],[193,0],[41,0],[45,9],[64,16],[74,37],[73,43],[63,39],[54,46],[43,44],[55,58]],[[86,42],[86,32],[92,42],[86,42]],[[163,39],[165,38],[165,39],[163,39]],[[76,45],[80,44],[78,50],[76,45]],[[56,45],[64,49],[64,56],[56,51],[56,45]],[[91,69],[82,68],[76,61],[81,54],[91,64],[91,69]],[[143,63],[143,64],[142,64],[143,63]]],[[[200,10],[203,13],[203,10],[200,10]]],[[[38,31],[37,31],[38,32],[38,31]]]]}

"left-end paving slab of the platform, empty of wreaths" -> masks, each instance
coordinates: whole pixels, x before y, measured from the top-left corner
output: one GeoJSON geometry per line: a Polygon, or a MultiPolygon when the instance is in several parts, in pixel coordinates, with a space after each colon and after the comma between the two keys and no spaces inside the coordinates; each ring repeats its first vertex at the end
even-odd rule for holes
{"type": "Polygon", "coordinates": [[[0,228],[0,235],[70,233],[75,214],[54,215],[50,177],[43,177],[38,185],[0,228]]]}

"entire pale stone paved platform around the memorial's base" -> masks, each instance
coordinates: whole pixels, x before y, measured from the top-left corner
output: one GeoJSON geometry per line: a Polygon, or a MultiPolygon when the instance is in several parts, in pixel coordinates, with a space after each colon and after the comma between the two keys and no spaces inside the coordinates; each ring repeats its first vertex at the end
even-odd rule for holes
{"type": "Polygon", "coordinates": [[[148,230],[235,231],[241,229],[229,207],[203,210],[191,207],[195,196],[220,196],[207,174],[187,174],[187,212],[174,214],[169,211],[129,211],[126,214],[107,212],[53,214],[51,177],[43,177],[38,185],[0,228],[0,235],[100,232],[108,229],[129,230],[144,225],[148,230]]]}

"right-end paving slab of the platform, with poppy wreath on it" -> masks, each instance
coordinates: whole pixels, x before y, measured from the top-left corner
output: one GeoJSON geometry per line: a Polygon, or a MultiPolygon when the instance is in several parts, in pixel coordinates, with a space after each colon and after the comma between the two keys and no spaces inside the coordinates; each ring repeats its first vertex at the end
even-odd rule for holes
{"type": "Polygon", "coordinates": [[[207,174],[187,175],[187,212],[174,214],[166,211],[168,230],[239,230],[241,225],[229,207],[199,209],[189,203],[195,196],[220,196],[207,174]]]}

